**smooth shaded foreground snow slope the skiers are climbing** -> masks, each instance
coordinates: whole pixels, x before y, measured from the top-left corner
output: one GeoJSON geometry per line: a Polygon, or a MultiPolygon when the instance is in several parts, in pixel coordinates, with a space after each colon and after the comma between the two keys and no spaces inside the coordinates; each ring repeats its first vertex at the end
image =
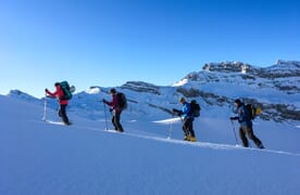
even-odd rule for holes
{"type": "MultiPolygon", "coordinates": [[[[202,142],[166,139],[170,130],[172,138],[182,133],[179,122],[168,126],[146,119],[127,120],[126,113],[122,121],[126,131],[122,134],[104,131],[104,118],[88,120],[73,113],[73,126],[51,125],[41,121],[42,108],[0,95],[1,195],[300,192],[297,128],[262,128],[259,136],[266,147],[272,146],[261,151],[209,143],[211,140],[204,138],[212,138],[212,132],[205,130],[197,131],[202,142]]],[[[57,113],[48,110],[47,118],[58,120],[57,113]]],[[[198,122],[208,127],[212,120],[201,118],[198,122]]],[[[214,122],[224,128],[214,134],[233,139],[229,126],[222,126],[225,121],[214,122]]]]}

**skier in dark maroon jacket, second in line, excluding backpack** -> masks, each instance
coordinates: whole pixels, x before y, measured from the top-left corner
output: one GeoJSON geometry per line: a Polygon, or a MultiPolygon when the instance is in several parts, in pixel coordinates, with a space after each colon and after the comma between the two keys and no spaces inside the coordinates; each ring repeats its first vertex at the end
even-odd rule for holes
{"type": "Polygon", "coordinates": [[[112,95],[112,101],[108,102],[105,99],[103,99],[103,103],[108,104],[109,106],[111,106],[111,113],[112,113],[112,123],[114,126],[114,129],[118,132],[123,132],[124,129],[122,127],[122,125],[120,123],[120,119],[121,119],[121,114],[122,114],[122,108],[118,106],[118,100],[117,100],[117,95],[116,95],[116,91],[115,89],[111,89],[110,93],[112,95]]]}

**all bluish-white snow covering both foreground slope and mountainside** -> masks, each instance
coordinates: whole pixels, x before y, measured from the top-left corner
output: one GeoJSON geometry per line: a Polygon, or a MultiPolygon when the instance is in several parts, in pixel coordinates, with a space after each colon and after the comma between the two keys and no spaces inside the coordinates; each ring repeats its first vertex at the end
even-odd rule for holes
{"type": "MultiPolygon", "coordinates": [[[[117,87],[128,100],[124,133],[105,130],[105,120],[109,129],[112,125],[101,100],[111,99],[109,88],[95,86],[73,95],[67,109],[72,126],[62,125],[57,100],[18,90],[0,95],[0,195],[299,194],[299,120],[257,118],[254,133],[266,147],[258,150],[253,142],[250,148],[236,143],[238,123],[228,119],[232,101],[243,98],[283,104],[297,114],[299,62],[264,68],[285,74],[276,78],[253,76],[250,65],[241,73],[240,65],[210,64],[211,70],[190,73],[173,87],[141,81],[117,87]],[[184,93],[178,89],[195,90],[187,100],[201,105],[193,121],[198,142],[182,141],[182,120],[170,114],[180,108],[184,93]]],[[[276,112],[273,106],[263,114],[276,112]]]]}

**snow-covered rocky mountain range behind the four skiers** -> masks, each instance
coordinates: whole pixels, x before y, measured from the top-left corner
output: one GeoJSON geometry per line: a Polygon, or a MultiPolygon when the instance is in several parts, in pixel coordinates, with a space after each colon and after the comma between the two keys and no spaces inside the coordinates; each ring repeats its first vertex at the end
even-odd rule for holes
{"type": "MultiPolygon", "coordinates": [[[[241,62],[209,63],[172,87],[128,81],[116,89],[126,94],[130,115],[139,117],[168,117],[172,108],[179,107],[178,99],[186,96],[200,103],[202,116],[227,118],[234,100],[241,99],[262,108],[262,120],[288,123],[300,120],[300,62],[297,61],[279,60],[264,68],[241,62]]],[[[110,99],[108,91],[108,88],[93,86],[75,94],[71,112],[86,118],[100,118],[103,105],[99,102],[110,99]]],[[[10,96],[37,101],[17,90],[10,96]]],[[[57,107],[54,100],[48,102],[49,106],[57,107]]]]}

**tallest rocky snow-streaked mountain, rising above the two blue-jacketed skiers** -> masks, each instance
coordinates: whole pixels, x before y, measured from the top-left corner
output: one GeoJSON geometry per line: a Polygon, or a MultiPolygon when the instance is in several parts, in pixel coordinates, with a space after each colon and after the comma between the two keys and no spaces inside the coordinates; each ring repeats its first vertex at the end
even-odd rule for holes
{"type": "Polygon", "coordinates": [[[175,86],[186,96],[201,96],[210,105],[224,106],[241,98],[260,106],[264,120],[300,120],[300,62],[297,61],[277,61],[266,68],[240,62],[210,63],[175,86]]]}

